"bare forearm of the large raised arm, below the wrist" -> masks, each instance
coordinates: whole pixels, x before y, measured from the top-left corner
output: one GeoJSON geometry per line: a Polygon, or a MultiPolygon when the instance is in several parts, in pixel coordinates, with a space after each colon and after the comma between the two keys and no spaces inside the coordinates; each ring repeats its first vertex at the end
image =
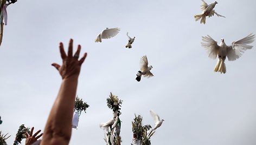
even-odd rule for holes
{"type": "Polygon", "coordinates": [[[42,144],[58,143],[58,140],[61,141],[59,143],[68,144],[72,131],[72,116],[77,85],[78,76],[68,77],[62,81],[59,94],[56,97],[44,129],[42,144]]]}

